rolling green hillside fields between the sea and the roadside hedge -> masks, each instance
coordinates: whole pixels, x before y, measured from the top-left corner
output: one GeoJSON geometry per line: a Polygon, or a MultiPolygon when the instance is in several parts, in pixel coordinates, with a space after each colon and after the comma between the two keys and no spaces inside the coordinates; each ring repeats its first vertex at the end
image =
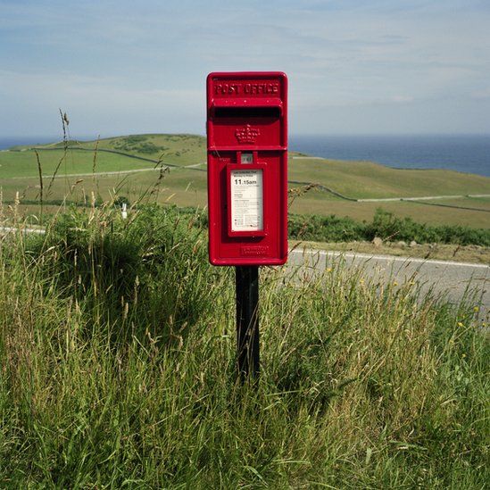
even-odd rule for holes
{"type": "MultiPolygon", "coordinates": [[[[89,199],[92,193],[102,200],[110,199],[114,194],[125,195],[134,202],[142,192],[154,189],[156,185],[154,196],[158,202],[206,205],[203,137],[137,135],[106,138],[98,142],[37,145],[36,148],[44,176],[46,202],[59,201],[64,197],[80,202],[89,199]],[[162,165],[169,168],[160,179],[158,169],[152,169],[162,165]],[[189,165],[195,167],[189,168],[189,165]],[[56,168],[57,177],[48,192],[50,176],[56,168]],[[130,170],[139,171],[125,173],[130,170]],[[106,172],[111,174],[104,175],[106,172]]],[[[488,198],[449,197],[418,203],[353,201],[366,198],[490,195],[490,179],[485,177],[451,170],[398,170],[372,162],[309,159],[295,153],[290,154],[288,172],[289,187],[295,189],[291,195],[290,212],[334,213],[356,220],[370,220],[376,209],[383,207],[397,216],[410,216],[432,224],[490,227],[488,198]],[[303,192],[303,183],[319,184],[321,187],[303,192]],[[353,200],[336,197],[323,187],[353,200]]],[[[0,186],[5,202],[12,202],[16,193],[19,193],[21,200],[32,202],[38,199],[38,174],[37,156],[31,147],[17,146],[12,151],[0,152],[0,186]]]]}

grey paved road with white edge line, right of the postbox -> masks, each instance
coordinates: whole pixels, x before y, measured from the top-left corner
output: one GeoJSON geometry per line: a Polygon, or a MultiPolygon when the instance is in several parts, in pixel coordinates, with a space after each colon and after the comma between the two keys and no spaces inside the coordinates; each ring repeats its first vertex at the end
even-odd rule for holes
{"type": "Polygon", "coordinates": [[[391,281],[400,286],[414,281],[419,284],[422,295],[432,289],[437,295],[444,295],[451,303],[459,303],[465,293],[475,292],[480,302],[479,320],[489,319],[490,266],[484,264],[311,249],[296,249],[289,254],[288,260],[290,267],[301,266],[312,273],[339,262],[345,262],[345,266],[353,270],[361,269],[364,276],[377,281],[391,281]]]}

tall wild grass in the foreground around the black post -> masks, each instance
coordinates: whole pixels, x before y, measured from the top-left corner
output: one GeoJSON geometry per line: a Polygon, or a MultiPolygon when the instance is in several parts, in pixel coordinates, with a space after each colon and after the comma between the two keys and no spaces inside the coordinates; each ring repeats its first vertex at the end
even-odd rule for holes
{"type": "Polygon", "coordinates": [[[0,486],[486,486],[471,305],[262,269],[262,377],[240,386],[233,275],[200,223],[102,206],[3,238],[0,486]]]}

